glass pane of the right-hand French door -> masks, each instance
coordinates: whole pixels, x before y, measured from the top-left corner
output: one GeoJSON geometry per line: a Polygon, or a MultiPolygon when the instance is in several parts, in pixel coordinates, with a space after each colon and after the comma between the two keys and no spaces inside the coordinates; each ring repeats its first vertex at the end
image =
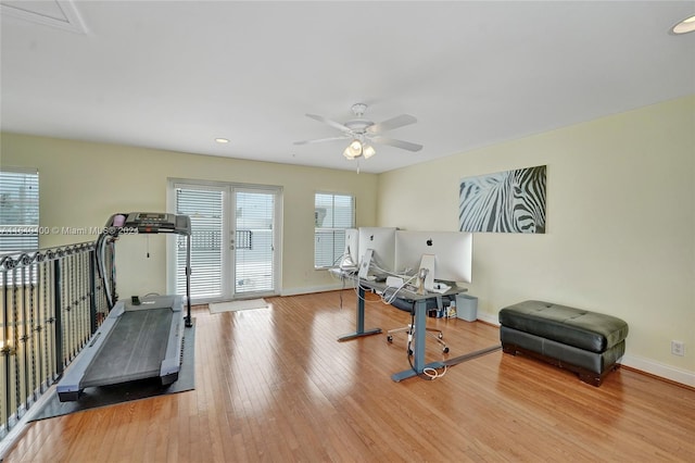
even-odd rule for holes
{"type": "Polygon", "coordinates": [[[236,191],[235,293],[271,291],[275,193],[236,191]]]}

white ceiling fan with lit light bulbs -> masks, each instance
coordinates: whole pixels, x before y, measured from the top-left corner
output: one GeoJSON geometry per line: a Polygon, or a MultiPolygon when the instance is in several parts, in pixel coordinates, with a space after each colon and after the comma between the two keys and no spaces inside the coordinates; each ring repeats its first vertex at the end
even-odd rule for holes
{"type": "Polygon", "coordinates": [[[307,117],[311,117],[318,122],[323,122],[324,124],[328,124],[331,127],[342,132],[342,134],[328,138],[295,141],[294,145],[307,145],[318,143],[323,141],[350,139],[350,145],[343,151],[343,155],[349,160],[354,160],[361,157],[369,159],[375,155],[376,150],[370,145],[370,142],[378,145],[389,145],[391,147],[396,147],[408,151],[419,151],[422,149],[422,145],[381,136],[381,134],[384,132],[415,124],[417,120],[414,116],[409,114],[401,114],[399,116],[375,124],[374,122],[364,118],[366,110],[367,105],[365,103],[353,104],[352,112],[355,114],[355,118],[352,118],[344,124],[331,121],[320,115],[306,114],[307,117]]]}

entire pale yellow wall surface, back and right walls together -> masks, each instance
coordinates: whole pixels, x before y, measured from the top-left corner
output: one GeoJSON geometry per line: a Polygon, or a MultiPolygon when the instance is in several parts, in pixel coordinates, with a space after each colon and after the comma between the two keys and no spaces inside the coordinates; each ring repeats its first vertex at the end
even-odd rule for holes
{"type": "MultiPolygon", "coordinates": [[[[609,313],[630,324],[624,364],[695,386],[694,147],[695,96],[379,176],[14,134],[2,135],[0,162],[39,168],[50,227],[164,210],[169,177],[281,186],[283,293],[336,287],[313,270],[317,190],[354,192],[361,226],[456,230],[462,177],[545,164],[547,233],[475,235],[469,291],[480,318],[496,322],[501,308],[526,299],[609,313]],[[685,356],[671,355],[672,339],[685,342],[685,356]]],[[[150,243],[151,260],[144,246],[127,252],[132,273],[164,287],[163,245],[150,243]]]]}

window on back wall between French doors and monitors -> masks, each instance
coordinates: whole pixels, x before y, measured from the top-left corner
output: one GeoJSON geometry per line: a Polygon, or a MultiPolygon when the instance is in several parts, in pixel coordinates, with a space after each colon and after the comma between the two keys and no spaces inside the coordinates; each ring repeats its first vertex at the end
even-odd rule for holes
{"type": "Polygon", "coordinates": [[[345,228],[355,226],[352,195],[317,192],[314,198],[314,267],[338,265],[345,249],[345,228]]]}

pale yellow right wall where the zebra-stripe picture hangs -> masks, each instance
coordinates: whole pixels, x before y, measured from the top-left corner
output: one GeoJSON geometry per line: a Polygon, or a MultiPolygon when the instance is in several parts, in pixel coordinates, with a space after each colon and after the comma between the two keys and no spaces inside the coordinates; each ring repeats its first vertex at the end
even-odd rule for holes
{"type": "Polygon", "coordinates": [[[479,317],[527,299],[612,314],[624,364],[695,386],[695,96],[383,174],[378,223],[456,230],[462,177],[534,165],[547,233],[475,235],[479,317]]]}

